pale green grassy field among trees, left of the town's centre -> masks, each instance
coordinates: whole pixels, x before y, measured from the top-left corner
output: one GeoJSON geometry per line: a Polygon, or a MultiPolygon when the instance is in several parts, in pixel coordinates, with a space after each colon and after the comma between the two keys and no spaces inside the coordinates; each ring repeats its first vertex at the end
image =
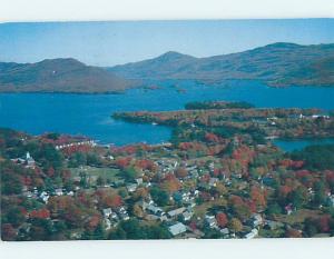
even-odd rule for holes
{"type": "Polygon", "coordinates": [[[82,167],[82,168],[72,168],[71,175],[72,177],[79,177],[80,172],[86,172],[87,176],[97,179],[101,177],[108,181],[115,181],[119,179],[119,170],[114,168],[96,168],[96,167],[82,167]]]}

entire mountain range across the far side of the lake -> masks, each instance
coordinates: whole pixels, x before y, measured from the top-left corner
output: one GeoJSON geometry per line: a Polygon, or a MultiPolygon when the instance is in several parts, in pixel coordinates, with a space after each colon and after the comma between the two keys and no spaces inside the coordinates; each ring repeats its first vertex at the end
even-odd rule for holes
{"type": "Polygon", "coordinates": [[[87,66],[71,58],[37,63],[0,62],[0,92],[120,92],[147,79],[205,83],[249,79],[276,87],[334,87],[334,43],[277,42],[208,58],[169,51],[154,59],[110,68],[87,66]]]}

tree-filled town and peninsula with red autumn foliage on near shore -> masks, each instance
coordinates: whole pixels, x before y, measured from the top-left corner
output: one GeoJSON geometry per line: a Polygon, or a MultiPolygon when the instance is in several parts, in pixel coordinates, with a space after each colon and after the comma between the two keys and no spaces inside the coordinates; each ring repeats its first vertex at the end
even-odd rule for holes
{"type": "Polygon", "coordinates": [[[101,146],[0,130],[3,240],[220,239],[334,233],[333,113],[197,102],[114,118],[169,126],[170,142],[101,146]]]}

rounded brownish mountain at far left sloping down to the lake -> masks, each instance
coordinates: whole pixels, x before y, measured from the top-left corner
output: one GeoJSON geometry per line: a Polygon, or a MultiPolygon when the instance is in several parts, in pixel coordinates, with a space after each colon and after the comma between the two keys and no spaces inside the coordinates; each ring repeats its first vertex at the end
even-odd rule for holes
{"type": "Polygon", "coordinates": [[[118,92],[132,82],[75,59],[37,63],[0,62],[0,92],[118,92]]]}

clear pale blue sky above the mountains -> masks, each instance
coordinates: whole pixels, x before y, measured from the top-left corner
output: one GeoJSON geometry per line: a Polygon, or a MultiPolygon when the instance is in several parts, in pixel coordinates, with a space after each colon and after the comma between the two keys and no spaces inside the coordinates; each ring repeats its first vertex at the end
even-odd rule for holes
{"type": "Polygon", "coordinates": [[[75,58],[115,66],[178,51],[195,57],[274,42],[334,43],[334,19],[0,23],[0,61],[75,58]]]}

